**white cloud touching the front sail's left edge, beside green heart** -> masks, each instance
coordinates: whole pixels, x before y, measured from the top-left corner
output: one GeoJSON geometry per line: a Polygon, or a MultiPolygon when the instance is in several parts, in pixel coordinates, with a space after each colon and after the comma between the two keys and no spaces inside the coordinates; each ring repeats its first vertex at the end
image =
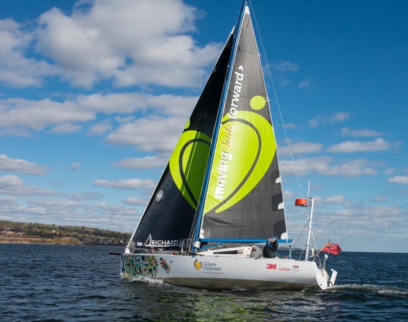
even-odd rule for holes
{"type": "Polygon", "coordinates": [[[109,143],[136,147],[141,151],[171,152],[179,139],[187,118],[149,116],[120,127],[106,137],[109,143]],[[152,129],[154,129],[152,131],[152,129]]]}

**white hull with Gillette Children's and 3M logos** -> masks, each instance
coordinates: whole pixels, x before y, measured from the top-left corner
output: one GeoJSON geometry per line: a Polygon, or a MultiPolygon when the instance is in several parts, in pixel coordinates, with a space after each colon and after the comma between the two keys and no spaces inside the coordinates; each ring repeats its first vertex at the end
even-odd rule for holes
{"type": "Polygon", "coordinates": [[[302,289],[328,287],[313,261],[214,255],[123,254],[122,277],[148,277],[205,289],[302,289]]]}

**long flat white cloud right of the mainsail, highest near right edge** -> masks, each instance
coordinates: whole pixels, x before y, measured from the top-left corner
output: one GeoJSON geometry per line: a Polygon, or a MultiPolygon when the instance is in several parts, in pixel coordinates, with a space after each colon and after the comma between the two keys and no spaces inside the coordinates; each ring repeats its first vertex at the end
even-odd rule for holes
{"type": "Polygon", "coordinates": [[[389,150],[396,145],[399,145],[399,143],[390,143],[379,137],[374,141],[367,142],[344,141],[339,144],[331,145],[331,147],[328,147],[326,151],[334,153],[377,152],[389,150]]]}

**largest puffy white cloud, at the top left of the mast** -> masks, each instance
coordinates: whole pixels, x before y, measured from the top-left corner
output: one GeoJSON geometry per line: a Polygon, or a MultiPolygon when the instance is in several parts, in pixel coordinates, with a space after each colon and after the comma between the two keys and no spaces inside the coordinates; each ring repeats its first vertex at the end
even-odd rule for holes
{"type": "Polygon", "coordinates": [[[73,85],[90,87],[112,78],[117,86],[199,87],[221,49],[215,43],[199,47],[186,34],[195,31],[198,11],[181,1],[85,6],[70,16],[57,8],[43,13],[35,33],[37,50],[73,85]]]}

